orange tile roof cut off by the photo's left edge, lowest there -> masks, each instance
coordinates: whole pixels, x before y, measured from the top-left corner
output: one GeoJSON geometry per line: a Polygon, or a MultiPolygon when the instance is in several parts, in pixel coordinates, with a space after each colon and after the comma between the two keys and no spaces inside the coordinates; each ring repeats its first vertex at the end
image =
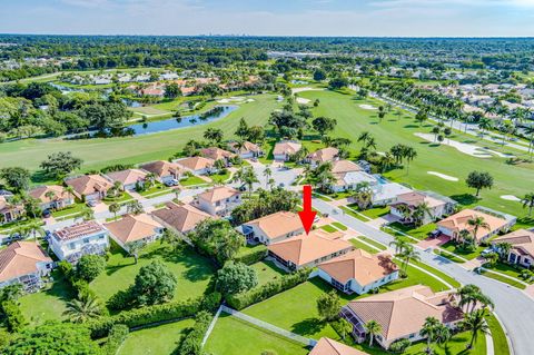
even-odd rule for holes
{"type": "Polygon", "coordinates": [[[0,282],[36,273],[37,263],[52,263],[52,259],[37,243],[12,243],[0,250],[0,282]]]}

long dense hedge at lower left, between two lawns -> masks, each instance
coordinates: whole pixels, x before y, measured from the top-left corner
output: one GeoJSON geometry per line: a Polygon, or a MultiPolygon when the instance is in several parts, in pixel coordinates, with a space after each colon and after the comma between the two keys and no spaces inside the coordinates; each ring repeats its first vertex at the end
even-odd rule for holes
{"type": "Polygon", "coordinates": [[[211,293],[198,298],[182,302],[170,302],[161,305],[146,306],[125,310],[113,316],[102,317],[88,322],[92,338],[107,336],[116,324],[125,324],[129,328],[142,325],[179,319],[196,315],[202,309],[216,309],[220,302],[219,293],[211,293]]]}

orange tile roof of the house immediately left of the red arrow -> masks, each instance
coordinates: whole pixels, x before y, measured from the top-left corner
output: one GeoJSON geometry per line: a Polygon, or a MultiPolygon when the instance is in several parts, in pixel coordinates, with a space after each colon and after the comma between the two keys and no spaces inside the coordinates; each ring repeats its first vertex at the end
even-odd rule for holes
{"type": "Polygon", "coordinates": [[[276,239],[290,233],[304,231],[300,217],[297,214],[289,211],[278,211],[261,218],[253,219],[245,225],[257,225],[269,239],[276,239]]]}

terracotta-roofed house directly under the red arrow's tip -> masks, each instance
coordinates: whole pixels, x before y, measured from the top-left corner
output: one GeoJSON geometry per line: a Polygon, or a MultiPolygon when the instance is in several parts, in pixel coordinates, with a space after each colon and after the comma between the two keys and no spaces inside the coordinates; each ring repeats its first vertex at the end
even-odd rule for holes
{"type": "Polygon", "coordinates": [[[344,239],[342,231],[328,233],[314,229],[267,246],[269,256],[289,270],[315,267],[337,256],[347,254],[354,247],[344,239]]]}

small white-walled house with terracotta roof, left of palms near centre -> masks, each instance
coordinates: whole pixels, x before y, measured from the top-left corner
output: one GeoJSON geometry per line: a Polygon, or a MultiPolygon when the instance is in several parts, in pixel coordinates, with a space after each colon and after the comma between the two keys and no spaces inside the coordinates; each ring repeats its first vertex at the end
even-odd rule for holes
{"type": "Polygon", "coordinates": [[[194,205],[211,216],[227,216],[241,204],[241,193],[231,187],[216,186],[195,197],[194,205]]]}

